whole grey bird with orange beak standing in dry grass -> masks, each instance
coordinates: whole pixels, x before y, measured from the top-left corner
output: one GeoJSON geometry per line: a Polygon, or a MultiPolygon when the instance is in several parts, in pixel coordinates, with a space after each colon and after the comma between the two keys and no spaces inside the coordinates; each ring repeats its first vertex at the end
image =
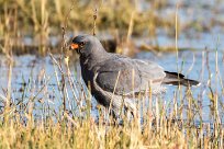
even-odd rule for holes
{"type": "Polygon", "coordinates": [[[159,93],[165,91],[163,84],[199,84],[198,81],[186,79],[183,74],[165,71],[155,62],[107,53],[99,39],[91,35],[79,35],[72,39],[72,44],[78,45],[76,50],[80,54],[85,83],[90,83],[91,93],[100,104],[109,107],[112,101],[115,112],[123,104],[136,111],[133,93],[145,92],[149,85],[153,93],[159,93]]]}

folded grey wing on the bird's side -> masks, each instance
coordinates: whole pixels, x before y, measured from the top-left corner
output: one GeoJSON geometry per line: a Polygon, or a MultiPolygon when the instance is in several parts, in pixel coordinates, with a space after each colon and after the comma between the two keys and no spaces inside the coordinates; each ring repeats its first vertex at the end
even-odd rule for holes
{"type": "Polygon", "coordinates": [[[146,90],[149,82],[156,89],[165,76],[164,69],[154,62],[120,57],[99,67],[96,83],[104,91],[124,95],[146,90]]]}

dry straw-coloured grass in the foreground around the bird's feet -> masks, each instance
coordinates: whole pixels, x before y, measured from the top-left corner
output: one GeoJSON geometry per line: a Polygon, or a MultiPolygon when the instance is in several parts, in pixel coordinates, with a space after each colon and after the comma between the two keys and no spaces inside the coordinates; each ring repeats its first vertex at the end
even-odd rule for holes
{"type": "MultiPolygon", "coordinates": [[[[212,119],[210,123],[200,119],[203,117],[200,99],[194,99],[190,89],[181,94],[182,89],[179,88],[173,101],[167,104],[164,102],[166,96],[138,96],[138,107],[145,105],[145,102],[149,104],[141,107],[142,118],[135,117],[130,121],[126,115],[121,115],[123,123],[119,125],[121,122],[114,123],[112,117],[107,118],[108,113],[101,106],[97,106],[99,117],[96,119],[91,116],[94,108],[91,105],[91,95],[82,82],[78,81],[80,79],[74,78],[68,59],[64,62],[64,59],[55,58],[53,55],[51,57],[55,73],[47,77],[44,71],[40,72],[38,81],[44,83],[37,85],[38,82],[29,81],[30,83],[23,87],[23,95],[16,100],[10,92],[1,94],[1,101],[5,103],[0,115],[1,148],[223,147],[224,128],[219,110],[222,101],[217,99],[220,95],[223,96],[223,93],[215,92],[215,89],[211,88],[209,94],[211,110],[208,114],[212,119]],[[57,80],[57,87],[53,89],[58,90],[57,92],[51,92],[48,89],[49,80],[53,78],[57,80]],[[34,84],[37,88],[33,89],[34,84]],[[184,101],[184,104],[181,101],[184,101]],[[184,105],[188,107],[183,107],[184,105]],[[200,123],[195,124],[199,119],[200,123]]],[[[9,83],[10,71],[9,69],[9,83]]]]}

